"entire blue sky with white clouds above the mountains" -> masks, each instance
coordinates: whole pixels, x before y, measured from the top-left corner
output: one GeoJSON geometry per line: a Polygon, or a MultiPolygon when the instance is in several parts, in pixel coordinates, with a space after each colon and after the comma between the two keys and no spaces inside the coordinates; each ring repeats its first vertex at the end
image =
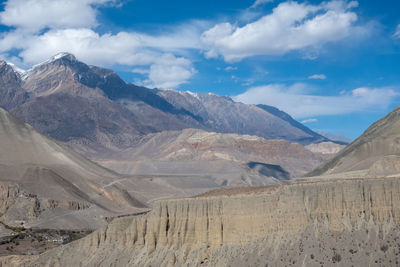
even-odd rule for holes
{"type": "Polygon", "coordinates": [[[400,104],[400,2],[8,0],[0,58],[59,52],[149,88],[267,104],[356,138],[400,104]]]}

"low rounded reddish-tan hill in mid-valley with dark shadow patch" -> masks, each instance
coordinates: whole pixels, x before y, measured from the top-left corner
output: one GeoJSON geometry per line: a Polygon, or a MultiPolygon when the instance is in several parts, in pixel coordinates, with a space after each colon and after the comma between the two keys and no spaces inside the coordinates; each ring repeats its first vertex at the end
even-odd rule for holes
{"type": "Polygon", "coordinates": [[[255,186],[301,176],[324,158],[284,140],[186,129],[146,135],[94,160],[124,174],[203,175],[219,185],[255,186]]]}

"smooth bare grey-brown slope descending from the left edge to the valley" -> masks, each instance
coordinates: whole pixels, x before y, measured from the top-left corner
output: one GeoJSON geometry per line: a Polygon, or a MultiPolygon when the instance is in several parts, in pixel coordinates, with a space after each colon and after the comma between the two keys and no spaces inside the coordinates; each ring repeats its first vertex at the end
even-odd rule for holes
{"type": "Polygon", "coordinates": [[[101,216],[145,208],[122,177],[0,109],[0,221],[96,229],[101,216]]]}

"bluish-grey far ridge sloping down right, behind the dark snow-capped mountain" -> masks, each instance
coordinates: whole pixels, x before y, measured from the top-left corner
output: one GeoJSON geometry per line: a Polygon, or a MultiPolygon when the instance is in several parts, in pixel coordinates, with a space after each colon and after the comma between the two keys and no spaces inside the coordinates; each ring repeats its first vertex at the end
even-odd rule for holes
{"type": "MultiPolygon", "coordinates": [[[[266,139],[284,139],[301,144],[329,139],[295,123],[288,114],[274,109],[234,102],[229,97],[175,90],[158,90],[158,95],[178,108],[202,118],[204,129],[218,133],[256,135],[266,139]],[[275,112],[278,111],[278,112],[275,112]]],[[[266,107],[266,106],[265,106],[266,107]]],[[[271,107],[272,108],[272,107],[271,107]]]]}

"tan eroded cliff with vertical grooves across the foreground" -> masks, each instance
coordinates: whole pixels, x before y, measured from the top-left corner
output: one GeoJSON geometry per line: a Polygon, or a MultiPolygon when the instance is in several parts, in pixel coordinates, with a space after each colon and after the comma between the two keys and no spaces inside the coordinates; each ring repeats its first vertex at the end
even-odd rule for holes
{"type": "Polygon", "coordinates": [[[303,181],[157,202],[25,265],[390,266],[399,226],[400,178],[303,181]]]}

